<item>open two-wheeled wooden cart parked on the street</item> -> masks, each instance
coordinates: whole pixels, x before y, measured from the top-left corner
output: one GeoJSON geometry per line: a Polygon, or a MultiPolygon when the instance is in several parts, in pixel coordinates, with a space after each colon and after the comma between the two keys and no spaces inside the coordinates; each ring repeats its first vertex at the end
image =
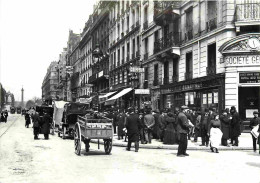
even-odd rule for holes
{"type": "Polygon", "coordinates": [[[88,152],[91,139],[98,139],[98,148],[99,140],[103,139],[105,153],[110,154],[113,140],[113,120],[108,118],[92,119],[91,116],[78,116],[74,133],[75,153],[77,155],[81,154],[81,141],[85,143],[86,152],[88,152]]]}

